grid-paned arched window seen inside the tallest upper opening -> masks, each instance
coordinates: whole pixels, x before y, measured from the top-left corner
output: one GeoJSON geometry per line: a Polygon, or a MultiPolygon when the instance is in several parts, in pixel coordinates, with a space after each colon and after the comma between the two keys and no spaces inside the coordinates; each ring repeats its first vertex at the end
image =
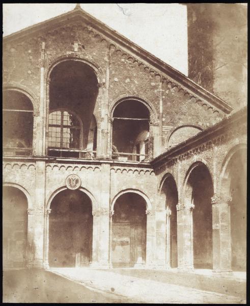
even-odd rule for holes
{"type": "Polygon", "coordinates": [[[82,124],[76,115],[57,110],[49,114],[48,150],[50,156],[78,157],[82,146],[82,124]],[[71,151],[72,149],[72,151],[71,151]]]}

